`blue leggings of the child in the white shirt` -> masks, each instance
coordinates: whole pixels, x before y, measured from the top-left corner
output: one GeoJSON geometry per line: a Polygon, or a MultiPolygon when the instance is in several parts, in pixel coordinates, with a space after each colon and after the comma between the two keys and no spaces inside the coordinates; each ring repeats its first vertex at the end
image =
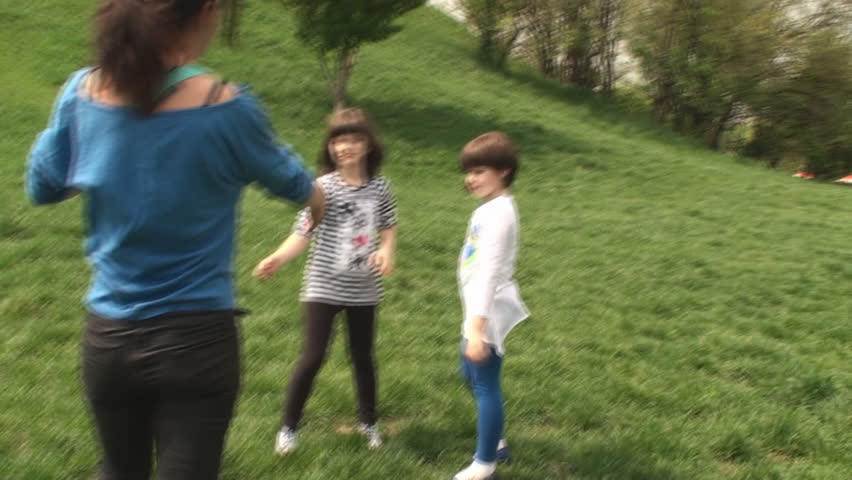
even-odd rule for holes
{"type": "Polygon", "coordinates": [[[503,434],[503,392],[500,389],[503,358],[491,347],[487,360],[474,363],[464,356],[466,346],[467,341],[462,340],[461,373],[476,399],[476,459],[491,463],[497,461],[497,444],[503,434]]]}

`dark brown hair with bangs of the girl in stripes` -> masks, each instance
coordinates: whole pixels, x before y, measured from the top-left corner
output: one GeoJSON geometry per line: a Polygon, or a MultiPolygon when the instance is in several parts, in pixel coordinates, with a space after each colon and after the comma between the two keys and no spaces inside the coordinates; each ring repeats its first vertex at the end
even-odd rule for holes
{"type": "Polygon", "coordinates": [[[331,158],[328,146],[334,137],[357,133],[367,137],[367,177],[373,178],[379,174],[384,160],[384,147],[379,140],[378,132],[370,117],[360,108],[345,108],[335,111],[328,120],[325,142],[320,152],[320,170],[323,174],[331,173],[337,168],[331,158]]]}

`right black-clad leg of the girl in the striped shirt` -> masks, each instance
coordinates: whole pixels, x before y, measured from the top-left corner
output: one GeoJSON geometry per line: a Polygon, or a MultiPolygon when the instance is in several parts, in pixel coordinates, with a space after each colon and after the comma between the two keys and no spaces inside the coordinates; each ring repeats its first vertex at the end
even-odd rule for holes
{"type": "Polygon", "coordinates": [[[376,336],[376,307],[347,307],[349,355],[355,370],[358,417],[365,425],[376,423],[376,366],[373,345],[376,336]]]}

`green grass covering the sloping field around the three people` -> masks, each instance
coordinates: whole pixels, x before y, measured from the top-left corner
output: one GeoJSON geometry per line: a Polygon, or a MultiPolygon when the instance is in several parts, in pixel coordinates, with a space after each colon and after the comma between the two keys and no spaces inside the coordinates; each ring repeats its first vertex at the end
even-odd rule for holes
{"type": "MultiPolygon", "coordinates": [[[[282,138],[313,163],[328,113],[311,55],[270,3],[239,49],[206,63],[249,81],[282,138]]],[[[80,201],[34,208],[24,158],[57,88],[89,57],[92,5],[0,7],[0,478],[87,479],[97,444],[83,401],[80,201]]],[[[386,446],[355,435],[337,341],[298,453],[272,455],[300,345],[300,265],[249,273],[293,209],[255,190],[236,263],[244,383],[222,478],[448,478],[474,449],[456,375],[455,258],[475,202],[458,151],[502,129],[523,153],[517,278],[532,318],[504,369],[510,480],[852,478],[852,190],[701,149],[522,67],[490,71],[459,25],[421,9],[364,49],[354,104],[376,117],[401,219],[377,355],[386,446]],[[845,432],[845,433],[844,433],[845,432]]],[[[341,331],[341,333],[343,333],[341,331]]],[[[339,339],[338,339],[339,340],[339,339]]]]}

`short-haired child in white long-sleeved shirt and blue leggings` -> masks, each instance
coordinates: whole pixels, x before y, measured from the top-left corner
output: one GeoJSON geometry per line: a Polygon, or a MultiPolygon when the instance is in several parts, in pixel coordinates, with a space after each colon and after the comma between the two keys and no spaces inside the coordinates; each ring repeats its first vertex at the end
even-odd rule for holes
{"type": "Polygon", "coordinates": [[[464,310],[462,373],[477,405],[477,449],[473,463],[454,480],[494,475],[503,430],[500,370],[509,331],[529,313],[512,275],[520,225],[510,186],[519,162],[512,141],[500,132],[483,134],[461,154],[465,187],[483,203],[474,211],[459,257],[464,310]]]}

